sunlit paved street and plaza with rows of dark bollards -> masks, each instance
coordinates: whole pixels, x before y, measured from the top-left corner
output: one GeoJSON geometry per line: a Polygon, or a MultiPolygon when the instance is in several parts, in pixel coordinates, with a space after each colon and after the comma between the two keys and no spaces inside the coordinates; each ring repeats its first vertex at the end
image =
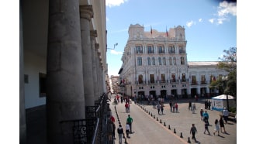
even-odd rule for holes
{"type": "MultiPolygon", "coordinates": [[[[113,97],[113,96],[112,96],[113,97]]],[[[112,98],[113,101],[113,98],[112,98]]],[[[196,111],[192,114],[189,111],[189,100],[175,100],[178,102],[178,113],[170,111],[168,101],[164,104],[164,115],[158,115],[157,109],[154,109],[152,105],[144,104],[136,105],[134,102],[130,104],[130,112],[126,113],[125,103],[119,103],[118,105],[110,104],[112,115],[116,118],[116,129],[119,122],[125,129],[126,118],[130,115],[133,118],[133,134],[130,134],[130,139],[126,139],[127,143],[237,143],[237,124],[235,122],[228,122],[225,125],[227,133],[220,132],[220,136],[213,135],[214,121],[220,119],[220,111],[207,110],[209,113],[209,132],[211,135],[204,134],[204,122],[200,120],[199,110],[204,109],[204,100],[195,102],[196,111]],[[115,108],[116,106],[116,108],[115,108]],[[117,117],[118,115],[118,117],[117,117]],[[119,118],[119,120],[118,120],[119,118]],[[165,123],[165,125],[164,125],[165,123]],[[197,142],[192,140],[192,135],[189,134],[192,123],[195,124],[198,133],[195,134],[197,142]],[[175,133],[176,132],[176,133],[175,133]],[[181,138],[182,135],[182,138],[181,138]]],[[[194,101],[193,101],[194,102],[194,101]]],[[[118,134],[116,132],[115,143],[118,143],[118,134]]],[[[123,143],[125,139],[123,139],[123,143]]]]}

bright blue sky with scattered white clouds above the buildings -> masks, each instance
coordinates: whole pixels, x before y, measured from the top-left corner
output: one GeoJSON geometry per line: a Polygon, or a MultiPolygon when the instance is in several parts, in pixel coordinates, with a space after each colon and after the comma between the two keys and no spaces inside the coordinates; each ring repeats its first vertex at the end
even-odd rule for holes
{"type": "Polygon", "coordinates": [[[189,61],[217,61],[237,47],[237,4],[216,0],[106,0],[109,76],[118,75],[131,24],[145,31],[185,27],[189,61]]]}

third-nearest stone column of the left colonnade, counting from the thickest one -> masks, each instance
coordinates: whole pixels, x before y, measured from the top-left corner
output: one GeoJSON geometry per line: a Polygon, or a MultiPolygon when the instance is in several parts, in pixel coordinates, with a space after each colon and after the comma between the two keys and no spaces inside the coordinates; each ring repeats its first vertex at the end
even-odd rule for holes
{"type": "Polygon", "coordinates": [[[98,94],[98,77],[97,77],[97,69],[96,69],[96,61],[95,61],[95,37],[97,37],[97,31],[96,30],[91,30],[90,32],[91,34],[91,50],[92,50],[92,74],[93,74],[93,85],[94,85],[94,94],[95,94],[95,99],[94,100],[98,100],[99,99],[99,94],[98,94]]]}

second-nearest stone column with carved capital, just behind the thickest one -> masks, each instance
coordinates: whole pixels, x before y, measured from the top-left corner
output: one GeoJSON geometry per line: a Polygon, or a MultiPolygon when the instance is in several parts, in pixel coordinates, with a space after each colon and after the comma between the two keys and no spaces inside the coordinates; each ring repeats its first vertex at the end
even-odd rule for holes
{"type": "Polygon", "coordinates": [[[80,16],[85,106],[93,106],[95,101],[95,94],[93,85],[92,49],[90,39],[90,21],[93,16],[92,5],[81,5],[80,16]]]}

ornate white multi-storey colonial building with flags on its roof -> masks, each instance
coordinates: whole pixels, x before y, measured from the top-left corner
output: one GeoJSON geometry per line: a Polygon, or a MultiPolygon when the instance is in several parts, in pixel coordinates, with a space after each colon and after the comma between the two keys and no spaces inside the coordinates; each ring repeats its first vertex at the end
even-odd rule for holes
{"type": "Polygon", "coordinates": [[[123,94],[190,98],[218,92],[209,89],[210,81],[227,72],[216,68],[218,62],[188,61],[184,27],[144,32],[144,26],[136,24],[128,33],[119,70],[123,94]]]}

